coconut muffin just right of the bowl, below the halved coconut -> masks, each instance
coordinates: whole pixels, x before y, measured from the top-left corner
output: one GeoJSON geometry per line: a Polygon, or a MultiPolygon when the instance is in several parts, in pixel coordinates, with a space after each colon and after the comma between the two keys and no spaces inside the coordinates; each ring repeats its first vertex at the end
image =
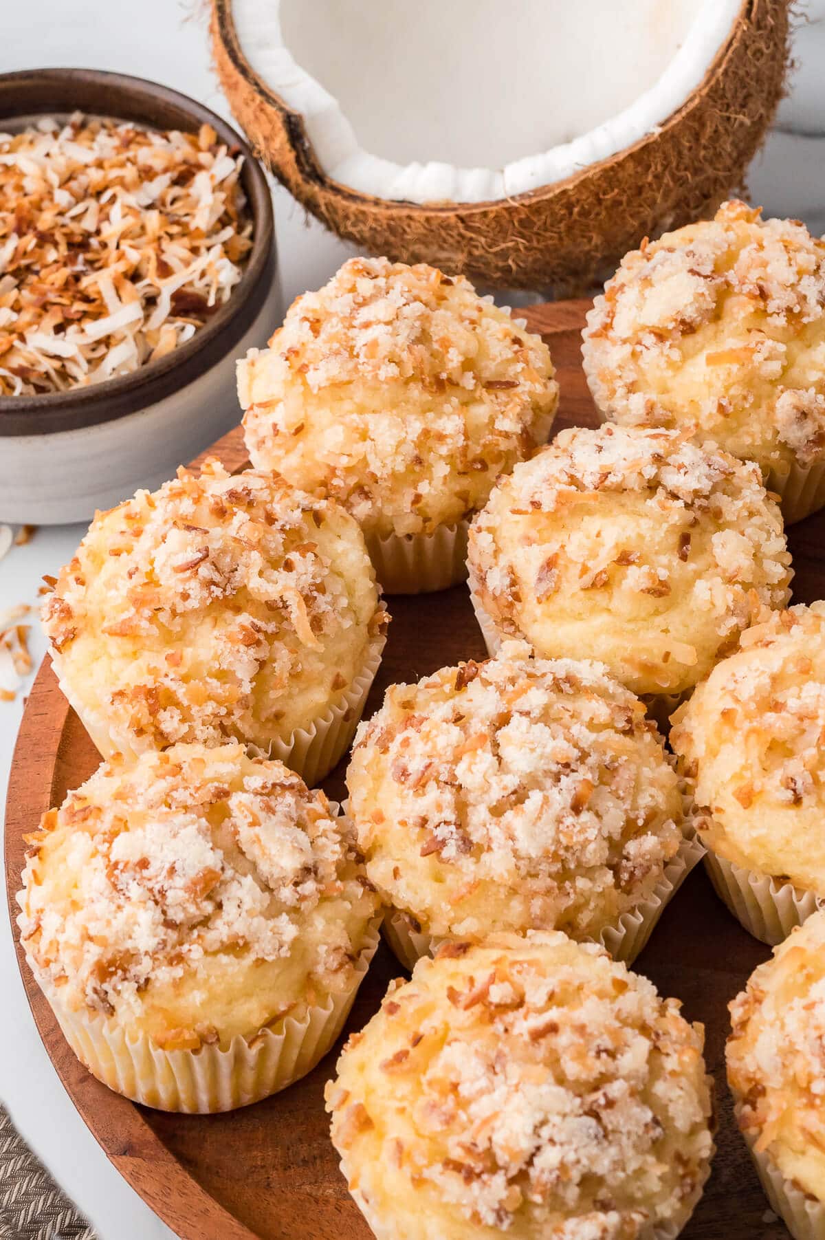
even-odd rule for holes
{"type": "Polygon", "coordinates": [[[545,443],[559,386],[541,339],[463,277],[358,258],[238,363],[238,394],[253,464],[342,503],[406,591],[463,572],[462,522],[545,443]]]}

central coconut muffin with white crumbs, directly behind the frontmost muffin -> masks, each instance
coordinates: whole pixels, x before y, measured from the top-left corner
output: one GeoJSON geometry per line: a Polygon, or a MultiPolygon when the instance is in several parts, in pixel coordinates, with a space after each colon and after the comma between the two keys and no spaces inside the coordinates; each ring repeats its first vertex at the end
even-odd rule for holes
{"type": "Polygon", "coordinates": [[[529,653],[393,684],[358,730],[348,812],[408,967],[431,937],[528,929],[612,928],[629,959],[701,856],[643,703],[600,663],[529,653]]]}

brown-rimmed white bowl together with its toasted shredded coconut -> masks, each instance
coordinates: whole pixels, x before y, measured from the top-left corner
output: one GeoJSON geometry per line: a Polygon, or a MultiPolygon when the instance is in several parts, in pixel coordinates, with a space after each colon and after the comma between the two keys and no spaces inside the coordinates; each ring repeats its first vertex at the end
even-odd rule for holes
{"type": "Polygon", "coordinates": [[[118,73],[0,74],[0,521],[87,520],[239,418],[281,321],[247,143],[118,73]]]}

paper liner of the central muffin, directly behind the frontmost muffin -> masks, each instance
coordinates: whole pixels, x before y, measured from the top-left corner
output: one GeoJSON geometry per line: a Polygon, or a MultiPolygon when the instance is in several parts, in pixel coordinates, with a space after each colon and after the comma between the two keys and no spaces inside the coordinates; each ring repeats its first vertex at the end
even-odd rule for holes
{"type": "MultiPolygon", "coordinates": [[[[696,836],[683,839],[679,851],[665,866],[661,878],[650,895],[637,904],[634,909],[623,913],[614,926],[606,926],[602,930],[597,941],[607,949],[613,960],[622,960],[626,965],[632,965],[642,954],[664,906],[673,899],[691,869],[699,864],[704,856],[705,847],[696,836]]],[[[409,970],[412,970],[416,960],[421,956],[434,955],[439,944],[443,942],[446,937],[416,930],[408,914],[398,910],[390,910],[386,914],[383,934],[400,962],[409,970]]]]}

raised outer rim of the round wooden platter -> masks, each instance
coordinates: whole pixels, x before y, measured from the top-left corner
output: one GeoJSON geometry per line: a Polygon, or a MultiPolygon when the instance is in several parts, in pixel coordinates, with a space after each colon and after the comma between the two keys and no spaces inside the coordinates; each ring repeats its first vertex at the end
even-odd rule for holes
{"type": "MultiPolygon", "coordinates": [[[[531,331],[548,339],[581,330],[591,304],[586,299],[541,304],[515,310],[514,316],[526,319],[531,331]]],[[[192,461],[192,467],[201,466],[207,458],[217,458],[230,472],[243,469],[247,461],[240,427],[204,449],[192,461]]],[[[107,1089],[79,1063],[26,963],[15,899],[26,852],[22,837],[37,827],[52,805],[53,773],[68,712],[51,658],[46,656],[28,693],[11,759],[4,831],[11,934],[37,1032],[61,1084],[103,1152],[180,1240],[204,1240],[206,1236],[256,1240],[255,1233],[225,1210],[178,1162],[144,1118],[140,1107],[107,1089]],[[42,779],[43,769],[50,771],[48,782],[42,779]]]]}

